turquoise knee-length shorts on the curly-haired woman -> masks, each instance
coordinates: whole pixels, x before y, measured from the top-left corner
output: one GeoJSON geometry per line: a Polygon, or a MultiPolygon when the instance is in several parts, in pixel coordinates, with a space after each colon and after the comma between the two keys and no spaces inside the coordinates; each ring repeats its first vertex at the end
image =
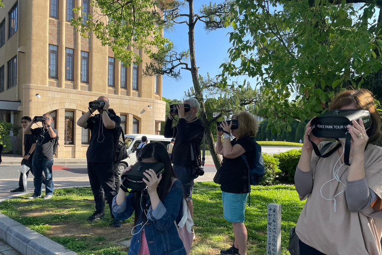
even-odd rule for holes
{"type": "Polygon", "coordinates": [[[244,223],[248,193],[235,194],[222,191],[221,198],[223,200],[224,219],[231,223],[244,223]]]}

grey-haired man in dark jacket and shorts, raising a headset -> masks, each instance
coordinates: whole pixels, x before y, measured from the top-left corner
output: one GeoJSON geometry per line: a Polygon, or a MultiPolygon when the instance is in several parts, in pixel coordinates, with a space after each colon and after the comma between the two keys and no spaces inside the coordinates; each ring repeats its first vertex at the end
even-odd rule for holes
{"type": "Polygon", "coordinates": [[[187,204],[193,217],[192,190],[194,178],[198,174],[200,162],[200,143],[203,139],[204,125],[196,115],[200,104],[190,98],[179,104],[172,111],[166,121],[165,137],[176,137],[172,150],[172,162],[178,179],[182,182],[187,204]],[[187,110],[185,111],[185,106],[187,110]],[[179,123],[173,128],[174,116],[179,116],[179,123]]]}

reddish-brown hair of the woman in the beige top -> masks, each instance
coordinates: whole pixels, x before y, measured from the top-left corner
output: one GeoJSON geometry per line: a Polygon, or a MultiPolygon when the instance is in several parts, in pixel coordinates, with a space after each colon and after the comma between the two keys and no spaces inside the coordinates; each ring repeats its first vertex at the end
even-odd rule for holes
{"type": "Polygon", "coordinates": [[[381,137],[381,115],[378,113],[373,94],[366,89],[346,90],[338,94],[330,103],[329,110],[340,110],[342,107],[355,105],[360,110],[370,112],[372,124],[366,131],[368,143],[374,143],[381,137]]]}

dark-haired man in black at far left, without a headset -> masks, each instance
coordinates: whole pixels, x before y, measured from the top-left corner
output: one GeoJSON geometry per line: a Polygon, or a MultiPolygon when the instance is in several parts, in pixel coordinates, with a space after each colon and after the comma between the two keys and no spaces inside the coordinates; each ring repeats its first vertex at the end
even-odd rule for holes
{"type": "MultiPolygon", "coordinates": [[[[26,128],[28,124],[32,121],[29,116],[24,116],[21,118],[21,127],[26,128]]],[[[32,158],[33,158],[33,151],[36,148],[36,136],[33,134],[24,134],[24,157],[21,160],[21,165],[26,165],[29,167],[29,170],[25,173],[26,177],[28,177],[29,172],[33,174],[33,168],[32,168],[32,158]]],[[[24,192],[24,184],[22,182],[22,175],[23,173],[20,173],[20,178],[18,180],[18,188],[13,189],[10,192],[24,192]]]]}

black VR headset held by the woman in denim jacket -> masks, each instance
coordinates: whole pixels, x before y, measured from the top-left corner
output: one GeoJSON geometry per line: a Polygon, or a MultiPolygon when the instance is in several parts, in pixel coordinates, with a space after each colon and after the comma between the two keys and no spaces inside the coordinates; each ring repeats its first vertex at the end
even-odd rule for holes
{"type": "Polygon", "coordinates": [[[154,172],[159,176],[161,173],[165,172],[165,165],[163,163],[145,163],[142,161],[137,161],[130,171],[125,172],[121,176],[121,189],[125,192],[129,192],[127,189],[133,190],[144,190],[146,188],[146,183],[142,179],[146,179],[143,173],[146,170],[153,169],[154,172]]]}

